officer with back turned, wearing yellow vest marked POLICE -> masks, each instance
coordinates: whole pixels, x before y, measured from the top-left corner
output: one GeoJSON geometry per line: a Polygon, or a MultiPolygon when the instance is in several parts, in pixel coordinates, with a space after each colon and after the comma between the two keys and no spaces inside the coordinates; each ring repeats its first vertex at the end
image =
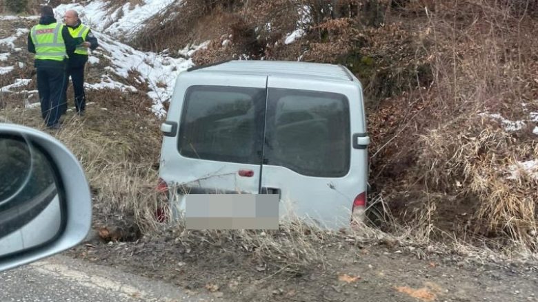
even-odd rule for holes
{"type": "Polygon", "coordinates": [[[41,116],[52,129],[59,129],[68,57],[76,47],[68,28],[57,23],[52,8],[43,6],[39,24],[28,34],[28,52],[35,54],[41,116]]]}

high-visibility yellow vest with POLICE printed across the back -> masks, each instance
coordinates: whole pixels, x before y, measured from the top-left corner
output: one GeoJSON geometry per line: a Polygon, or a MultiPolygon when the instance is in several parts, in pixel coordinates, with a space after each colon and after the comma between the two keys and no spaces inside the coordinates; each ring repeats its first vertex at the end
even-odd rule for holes
{"type": "Polygon", "coordinates": [[[38,60],[63,61],[67,57],[66,44],[63,42],[61,30],[63,24],[38,24],[30,30],[35,46],[35,58],[38,60]]]}

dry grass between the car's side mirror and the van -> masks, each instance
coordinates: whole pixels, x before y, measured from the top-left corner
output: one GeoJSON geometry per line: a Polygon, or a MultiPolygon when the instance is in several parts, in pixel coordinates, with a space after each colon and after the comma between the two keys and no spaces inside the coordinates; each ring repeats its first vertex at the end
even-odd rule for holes
{"type": "Polygon", "coordinates": [[[87,91],[87,114],[68,112],[59,131],[44,129],[39,107],[24,109],[22,100],[2,109],[3,120],[46,131],[66,144],[81,162],[94,200],[94,226],[119,228],[122,239],[158,228],[155,211],[163,206],[155,191],[161,133],[149,111],[126,111],[143,102],[119,91],[87,91]],[[96,97],[99,95],[99,98],[96,97]],[[116,100],[114,102],[114,100],[116,100]],[[19,105],[17,105],[19,104],[19,105]]]}

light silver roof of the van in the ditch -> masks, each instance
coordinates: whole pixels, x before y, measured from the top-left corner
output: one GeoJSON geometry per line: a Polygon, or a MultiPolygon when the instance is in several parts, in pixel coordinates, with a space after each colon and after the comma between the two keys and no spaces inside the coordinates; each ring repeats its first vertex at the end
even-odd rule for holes
{"type": "Polygon", "coordinates": [[[217,72],[225,74],[249,74],[261,76],[308,77],[330,80],[353,81],[346,67],[326,63],[295,61],[233,60],[192,67],[188,72],[217,72]]]}

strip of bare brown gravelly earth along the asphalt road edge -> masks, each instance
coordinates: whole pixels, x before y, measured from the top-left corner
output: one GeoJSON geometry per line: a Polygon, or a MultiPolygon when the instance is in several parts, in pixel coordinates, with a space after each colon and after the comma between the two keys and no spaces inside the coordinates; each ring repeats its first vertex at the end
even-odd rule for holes
{"type": "Polygon", "coordinates": [[[186,249],[177,237],[97,239],[67,254],[227,301],[538,301],[536,264],[480,263],[449,252],[341,237],[316,247],[322,263],[291,274],[255,261],[255,252],[241,247],[201,242],[186,249]]]}

